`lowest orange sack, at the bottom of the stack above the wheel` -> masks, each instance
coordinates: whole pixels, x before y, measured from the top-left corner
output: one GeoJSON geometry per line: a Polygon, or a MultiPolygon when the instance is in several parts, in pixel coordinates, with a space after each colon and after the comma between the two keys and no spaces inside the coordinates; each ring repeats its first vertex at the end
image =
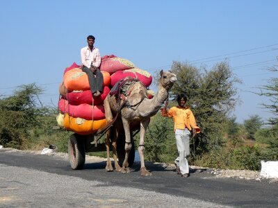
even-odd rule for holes
{"type": "Polygon", "coordinates": [[[97,121],[86,120],[81,118],[73,118],[68,114],[64,115],[64,126],[67,130],[73,131],[79,135],[90,135],[97,132],[99,128],[106,125],[106,119],[97,121]]]}

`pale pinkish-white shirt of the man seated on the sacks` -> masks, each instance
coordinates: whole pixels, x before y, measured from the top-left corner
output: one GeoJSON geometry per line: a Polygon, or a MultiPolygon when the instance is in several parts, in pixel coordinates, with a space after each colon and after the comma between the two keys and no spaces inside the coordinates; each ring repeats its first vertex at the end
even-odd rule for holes
{"type": "Polygon", "coordinates": [[[99,53],[99,49],[93,48],[92,51],[88,46],[85,46],[81,49],[81,62],[85,67],[88,67],[90,69],[91,64],[94,67],[99,67],[101,62],[101,57],[99,53]]]}

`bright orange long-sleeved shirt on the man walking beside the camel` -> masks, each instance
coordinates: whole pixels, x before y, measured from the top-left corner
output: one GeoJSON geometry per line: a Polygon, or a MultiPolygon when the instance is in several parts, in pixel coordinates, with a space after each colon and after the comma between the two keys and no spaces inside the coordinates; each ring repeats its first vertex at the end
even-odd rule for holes
{"type": "Polygon", "coordinates": [[[171,107],[170,110],[161,111],[162,116],[170,117],[174,120],[174,130],[185,129],[192,130],[194,128],[197,133],[201,132],[200,128],[197,126],[193,112],[189,107],[171,107]]]}

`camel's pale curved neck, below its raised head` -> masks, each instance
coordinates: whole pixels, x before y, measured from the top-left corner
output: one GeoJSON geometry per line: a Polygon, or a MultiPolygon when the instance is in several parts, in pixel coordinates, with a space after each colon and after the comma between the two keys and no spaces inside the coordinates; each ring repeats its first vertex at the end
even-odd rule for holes
{"type": "Polygon", "coordinates": [[[154,95],[152,99],[145,98],[142,103],[138,106],[138,111],[142,117],[151,117],[161,109],[164,101],[167,99],[168,91],[163,88],[159,83],[158,92],[154,95]]]}

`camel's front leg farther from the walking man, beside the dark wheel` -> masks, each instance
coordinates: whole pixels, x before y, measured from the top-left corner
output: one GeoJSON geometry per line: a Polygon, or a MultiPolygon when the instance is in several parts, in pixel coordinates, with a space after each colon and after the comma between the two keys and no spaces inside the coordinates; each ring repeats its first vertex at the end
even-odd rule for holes
{"type": "Polygon", "coordinates": [[[129,121],[122,117],[122,124],[124,125],[124,134],[126,137],[126,144],[124,145],[124,150],[126,150],[126,155],[124,157],[124,162],[122,163],[122,173],[130,173],[129,170],[129,153],[131,151],[131,136],[130,136],[130,128],[129,128],[129,121]]]}

